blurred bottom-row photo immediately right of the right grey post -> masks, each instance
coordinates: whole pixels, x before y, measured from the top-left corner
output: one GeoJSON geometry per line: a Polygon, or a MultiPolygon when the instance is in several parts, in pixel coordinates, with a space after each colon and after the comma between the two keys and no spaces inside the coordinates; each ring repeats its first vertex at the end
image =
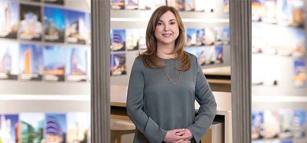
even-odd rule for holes
{"type": "Polygon", "coordinates": [[[264,137],[264,112],[252,111],[252,139],[264,137]]]}

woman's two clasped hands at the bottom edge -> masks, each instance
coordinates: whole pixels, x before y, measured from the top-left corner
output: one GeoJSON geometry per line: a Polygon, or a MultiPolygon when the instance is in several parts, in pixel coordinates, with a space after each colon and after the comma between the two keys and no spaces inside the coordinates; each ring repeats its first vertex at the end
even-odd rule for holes
{"type": "Polygon", "coordinates": [[[174,129],[167,131],[163,141],[173,143],[189,143],[193,137],[189,129],[174,129]]]}

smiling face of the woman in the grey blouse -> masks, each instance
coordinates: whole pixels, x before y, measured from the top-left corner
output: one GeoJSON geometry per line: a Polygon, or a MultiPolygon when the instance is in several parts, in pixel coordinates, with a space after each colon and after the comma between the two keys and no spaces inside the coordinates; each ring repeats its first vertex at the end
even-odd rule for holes
{"type": "Polygon", "coordinates": [[[160,17],[155,29],[157,44],[174,44],[178,36],[179,25],[177,18],[171,11],[167,11],[160,17]]]}

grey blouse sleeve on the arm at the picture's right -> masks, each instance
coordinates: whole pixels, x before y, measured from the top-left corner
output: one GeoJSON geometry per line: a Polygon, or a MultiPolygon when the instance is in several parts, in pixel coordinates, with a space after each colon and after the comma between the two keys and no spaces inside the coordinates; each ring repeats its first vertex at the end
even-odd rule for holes
{"type": "Polygon", "coordinates": [[[210,86],[205,78],[200,63],[197,61],[197,75],[195,84],[195,100],[201,105],[199,114],[195,117],[194,123],[188,127],[196,142],[201,138],[211,126],[216,114],[216,103],[210,86]]]}

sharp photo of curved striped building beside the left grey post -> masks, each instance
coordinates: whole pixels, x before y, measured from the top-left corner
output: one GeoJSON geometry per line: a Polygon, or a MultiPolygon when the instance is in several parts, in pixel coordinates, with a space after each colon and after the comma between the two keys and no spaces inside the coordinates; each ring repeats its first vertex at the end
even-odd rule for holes
{"type": "Polygon", "coordinates": [[[112,30],[112,49],[113,51],[125,51],[126,32],[124,29],[112,30]]]}

